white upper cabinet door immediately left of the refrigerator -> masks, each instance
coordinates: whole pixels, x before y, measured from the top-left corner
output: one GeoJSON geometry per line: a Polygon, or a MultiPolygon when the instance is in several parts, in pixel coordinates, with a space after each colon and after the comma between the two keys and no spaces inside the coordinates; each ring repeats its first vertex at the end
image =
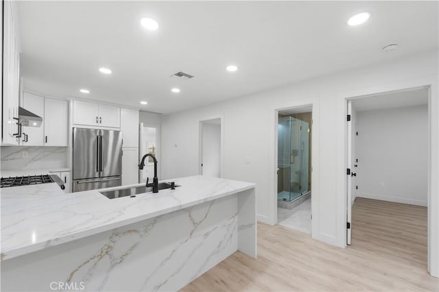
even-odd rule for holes
{"type": "Polygon", "coordinates": [[[69,102],[46,98],[44,103],[44,145],[67,146],[69,102]]]}

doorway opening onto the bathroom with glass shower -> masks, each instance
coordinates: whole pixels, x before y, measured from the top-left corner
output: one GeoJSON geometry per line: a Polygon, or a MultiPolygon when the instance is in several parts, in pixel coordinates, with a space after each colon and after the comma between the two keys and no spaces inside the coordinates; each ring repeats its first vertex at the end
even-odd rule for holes
{"type": "Polygon", "coordinates": [[[311,234],[312,106],[278,111],[277,223],[311,234]]]}

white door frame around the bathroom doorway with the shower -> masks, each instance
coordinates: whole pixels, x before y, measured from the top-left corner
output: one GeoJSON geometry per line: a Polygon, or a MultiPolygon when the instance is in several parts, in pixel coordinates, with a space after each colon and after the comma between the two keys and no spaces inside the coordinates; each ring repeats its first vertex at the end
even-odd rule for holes
{"type": "Polygon", "coordinates": [[[312,131],[311,131],[311,237],[313,239],[318,239],[318,200],[320,195],[320,151],[319,151],[319,134],[320,134],[320,102],[317,100],[313,100],[311,102],[303,102],[294,104],[292,106],[285,106],[283,108],[274,109],[274,158],[272,171],[270,178],[272,178],[272,182],[274,182],[274,187],[272,188],[274,196],[272,200],[272,214],[273,221],[272,225],[277,225],[277,169],[278,169],[278,114],[282,110],[289,110],[293,108],[307,108],[311,106],[312,113],[312,131]]]}

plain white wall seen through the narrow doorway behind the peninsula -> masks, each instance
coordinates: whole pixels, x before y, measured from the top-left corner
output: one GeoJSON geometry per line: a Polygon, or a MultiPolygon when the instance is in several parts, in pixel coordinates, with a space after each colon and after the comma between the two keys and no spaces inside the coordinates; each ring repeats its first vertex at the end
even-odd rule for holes
{"type": "Polygon", "coordinates": [[[221,125],[202,123],[202,175],[220,177],[221,125]]]}

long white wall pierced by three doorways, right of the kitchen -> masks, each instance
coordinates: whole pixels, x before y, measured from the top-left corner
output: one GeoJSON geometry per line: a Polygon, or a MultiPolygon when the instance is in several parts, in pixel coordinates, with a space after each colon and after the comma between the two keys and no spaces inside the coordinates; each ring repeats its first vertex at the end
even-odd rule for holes
{"type": "MultiPolygon", "coordinates": [[[[257,184],[260,221],[276,223],[276,109],[313,105],[313,228],[312,236],[346,246],[346,103],[342,95],[386,84],[438,75],[438,51],[298,82],[219,104],[164,115],[161,119],[163,178],[198,173],[198,121],[224,117],[224,178],[257,184]],[[315,156],[316,154],[317,156],[315,156]],[[246,164],[246,158],[250,164],[246,164]]],[[[437,175],[439,112],[437,88],[431,91],[431,166],[437,175]],[[435,132],[436,131],[436,132],[435,132]],[[433,147],[434,146],[434,147],[433,147]]],[[[431,182],[437,202],[438,181],[431,182]]],[[[437,210],[434,214],[436,214],[437,210]]],[[[436,215],[434,215],[436,216],[436,215]]],[[[437,216],[436,216],[437,217],[437,216]]],[[[436,218],[434,217],[434,218],[436,218]]],[[[437,236],[436,236],[437,238],[437,236]]],[[[437,245],[437,241],[436,241],[437,245]]],[[[436,247],[437,250],[437,247],[436,247]]]]}

